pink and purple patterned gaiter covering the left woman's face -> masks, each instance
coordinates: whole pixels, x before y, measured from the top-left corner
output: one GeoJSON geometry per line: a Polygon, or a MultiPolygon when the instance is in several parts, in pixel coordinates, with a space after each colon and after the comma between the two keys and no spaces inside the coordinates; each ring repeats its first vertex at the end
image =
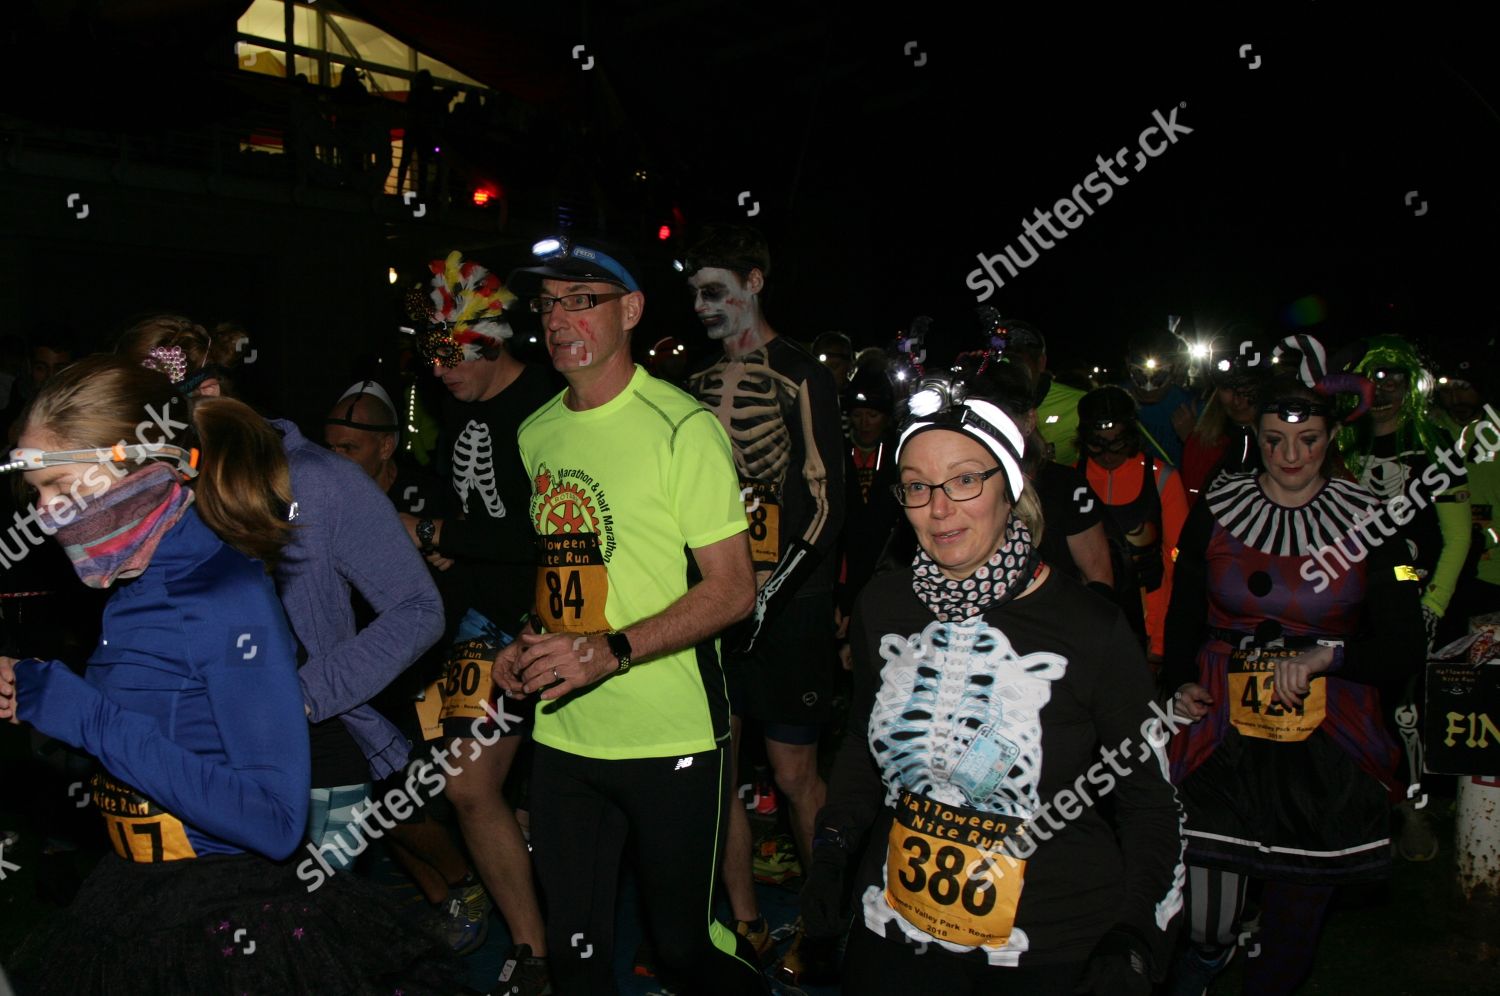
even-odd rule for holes
{"type": "Polygon", "coordinates": [[[51,508],[40,508],[38,520],[44,531],[57,534],[86,585],[108,588],[146,572],[156,544],[183,518],[192,498],[172,468],[152,464],[75,510],[66,524],[51,508]]]}

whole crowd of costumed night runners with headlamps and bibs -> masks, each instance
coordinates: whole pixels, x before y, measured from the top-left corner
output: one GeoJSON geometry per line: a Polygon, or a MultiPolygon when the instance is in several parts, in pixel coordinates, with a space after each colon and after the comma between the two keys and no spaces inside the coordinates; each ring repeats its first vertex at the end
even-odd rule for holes
{"type": "Polygon", "coordinates": [[[360,381],[321,438],[237,398],[237,327],[33,351],[0,554],[99,639],[8,626],[0,720],[94,759],[110,850],[16,993],[474,992],[494,916],[490,992],[612,993],[627,866],[678,993],[1196,996],[1251,928],[1245,992],[1292,993],[1340,886],[1436,854],[1424,663],[1500,609],[1479,364],[1162,322],[1112,380],[990,309],[940,363],[926,320],[780,334],[748,226],[680,268],[692,370],[632,358],[624,248],[436,260],[441,405],[360,381]]]}

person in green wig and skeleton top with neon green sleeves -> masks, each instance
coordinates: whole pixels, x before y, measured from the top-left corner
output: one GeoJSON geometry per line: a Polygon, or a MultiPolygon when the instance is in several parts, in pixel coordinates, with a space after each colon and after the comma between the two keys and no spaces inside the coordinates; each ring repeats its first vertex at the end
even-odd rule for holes
{"type": "MultiPolygon", "coordinates": [[[[1374,382],[1374,404],[1364,418],[1340,430],[1338,448],[1359,483],[1384,502],[1396,538],[1407,544],[1408,562],[1424,585],[1422,618],[1431,648],[1468,556],[1468,477],[1452,436],[1431,418],[1432,375],[1410,342],[1371,338],[1354,370],[1374,382]]],[[[1420,664],[1413,662],[1418,678],[1383,690],[1386,702],[1398,704],[1394,718],[1413,792],[1422,778],[1420,664]]],[[[1396,854],[1408,861],[1436,856],[1437,836],[1426,813],[1410,800],[1396,813],[1396,854]]]]}

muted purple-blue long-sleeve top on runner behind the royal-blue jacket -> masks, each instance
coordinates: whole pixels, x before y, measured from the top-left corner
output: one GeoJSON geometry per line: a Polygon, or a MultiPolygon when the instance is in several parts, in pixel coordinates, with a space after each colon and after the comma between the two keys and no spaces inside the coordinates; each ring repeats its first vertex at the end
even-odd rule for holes
{"type": "Polygon", "coordinates": [[[375,780],[406,764],[400,730],[368,702],[442,636],[442,598],[390,498],[356,464],[284,418],[297,502],[276,588],[306,651],[298,672],[308,718],[338,716],[375,780]],[[356,630],[350,586],[375,610],[356,630]]]}

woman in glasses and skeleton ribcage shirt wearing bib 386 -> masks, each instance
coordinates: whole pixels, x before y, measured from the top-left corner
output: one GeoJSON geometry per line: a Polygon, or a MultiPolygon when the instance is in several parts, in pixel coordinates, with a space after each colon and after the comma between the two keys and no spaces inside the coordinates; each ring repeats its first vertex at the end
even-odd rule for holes
{"type": "Polygon", "coordinates": [[[1036,555],[1010,417],[936,378],[910,411],[896,495],[920,550],[855,606],[807,940],[843,932],[852,876],[844,992],[1144,996],[1182,867],[1140,645],[1036,555]]]}

